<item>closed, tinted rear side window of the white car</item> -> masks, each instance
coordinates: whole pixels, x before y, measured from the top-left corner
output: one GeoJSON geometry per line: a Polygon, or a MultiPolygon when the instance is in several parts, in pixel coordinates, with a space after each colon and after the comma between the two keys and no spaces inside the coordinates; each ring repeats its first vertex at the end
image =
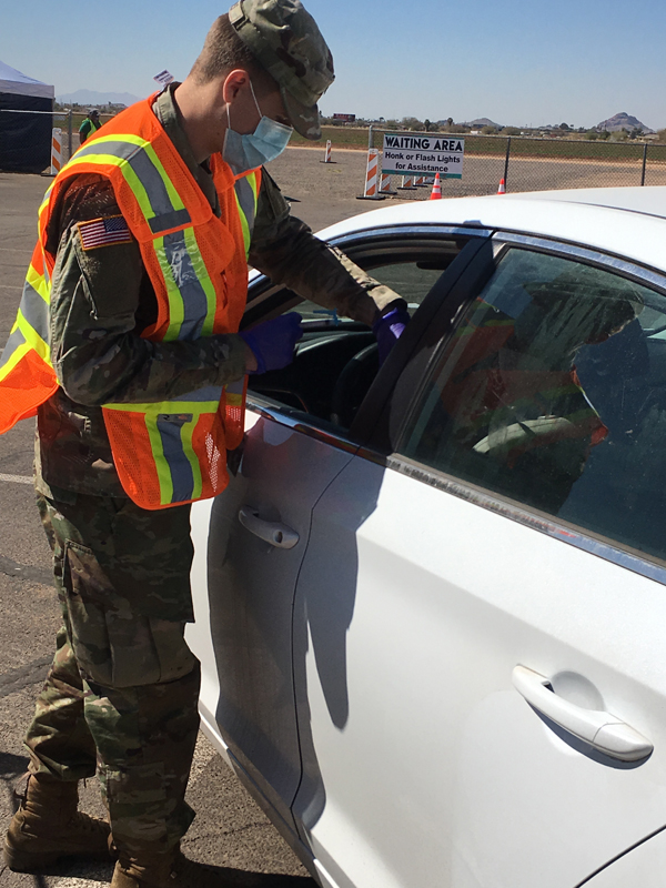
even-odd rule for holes
{"type": "Polygon", "coordinates": [[[666,297],[511,249],[441,344],[407,457],[666,558],[666,297]]]}

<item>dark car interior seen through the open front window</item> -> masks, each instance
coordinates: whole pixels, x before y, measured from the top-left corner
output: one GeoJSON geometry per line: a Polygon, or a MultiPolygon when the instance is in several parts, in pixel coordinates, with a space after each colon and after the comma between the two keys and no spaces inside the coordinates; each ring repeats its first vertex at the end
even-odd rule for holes
{"type": "MultiPolygon", "coordinates": [[[[384,238],[345,244],[344,251],[380,283],[418,309],[467,239],[438,236],[384,238]]],[[[249,295],[243,326],[287,311],[303,315],[304,335],[293,364],[250,379],[252,393],[305,413],[310,420],[351,426],[380,364],[373,332],[364,324],[339,317],[285,287],[260,279],[249,295]]]]}

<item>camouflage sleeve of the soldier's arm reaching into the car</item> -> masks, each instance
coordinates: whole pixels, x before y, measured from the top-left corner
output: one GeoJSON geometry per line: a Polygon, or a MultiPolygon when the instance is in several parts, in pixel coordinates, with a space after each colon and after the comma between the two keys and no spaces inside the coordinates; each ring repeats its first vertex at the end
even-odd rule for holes
{"type": "Polygon", "coordinates": [[[354,321],[371,325],[386,307],[406,307],[397,293],[384,286],[349,256],[312,233],[290,214],[280,189],[264,170],[250,264],[275,284],[354,321]]]}

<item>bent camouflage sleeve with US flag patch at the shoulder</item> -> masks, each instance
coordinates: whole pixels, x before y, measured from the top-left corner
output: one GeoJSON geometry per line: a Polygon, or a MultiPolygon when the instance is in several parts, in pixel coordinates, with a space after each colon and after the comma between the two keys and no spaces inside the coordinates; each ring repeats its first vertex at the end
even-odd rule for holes
{"type": "MultiPolygon", "coordinates": [[[[95,200],[93,218],[118,215],[112,192],[104,202],[98,191],[95,200]]],[[[169,343],[141,337],[140,319],[155,297],[139,245],[132,240],[84,250],[77,216],[90,212],[85,200],[79,203],[60,232],[51,291],[51,360],[65,394],[87,406],[143,403],[240,379],[245,345],[238,335],[169,343]]]]}

